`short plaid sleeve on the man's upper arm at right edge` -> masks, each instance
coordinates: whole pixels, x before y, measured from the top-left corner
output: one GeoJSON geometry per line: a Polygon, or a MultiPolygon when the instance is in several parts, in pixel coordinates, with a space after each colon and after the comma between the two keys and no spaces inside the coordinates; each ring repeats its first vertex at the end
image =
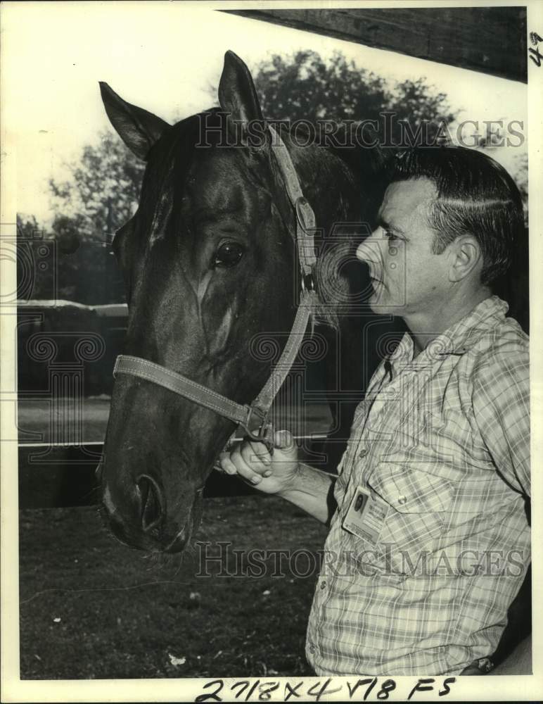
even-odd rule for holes
{"type": "Polygon", "coordinates": [[[530,496],[530,358],[528,341],[504,341],[475,369],[475,422],[497,471],[530,496]]]}

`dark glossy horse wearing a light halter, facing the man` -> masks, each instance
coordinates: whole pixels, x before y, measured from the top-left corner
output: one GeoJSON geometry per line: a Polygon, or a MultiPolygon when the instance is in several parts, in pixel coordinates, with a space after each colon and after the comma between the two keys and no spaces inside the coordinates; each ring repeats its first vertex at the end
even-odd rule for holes
{"type": "MultiPolygon", "coordinates": [[[[346,148],[299,144],[284,125],[268,130],[250,72],[231,51],[220,107],[175,125],[127,103],[108,84],[101,83],[101,94],[121,139],[146,161],[139,208],[113,239],[129,315],[98,472],[102,505],[117,539],[174,553],[198,528],[205,481],[236,429],[214,401],[245,408],[255,398],[269,361],[252,345],[262,334],[280,349],[288,345],[300,279],[313,295],[313,321],[346,341],[328,370],[336,391],[338,367],[339,386],[357,389],[336,420],[336,436],[348,437],[362,377],[369,378],[377,356],[371,348],[362,363],[361,318],[341,311],[350,296],[359,300],[370,290],[354,251],[381,203],[386,157],[355,141],[346,148]],[[274,138],[290,165],[279,163],[274,138]],[[304,196],[296,208],[288,197],[293,188],[304,196]],[[304,255],[296,232],[307,234],[307,222],[300,234],[300,218],[308,210],[318,256],[310,272],[298,273],[304,255]],[[128,368],[131,359],[139,360],[139,372],[128,368]],[[178,393],[165,376],[177,379],[178,393]],[[191,389],[179,395],[183,384],[209,403],[195,401],[191,389]]],[[[336,444],[333,451],[342,450],[336,444]]]]}

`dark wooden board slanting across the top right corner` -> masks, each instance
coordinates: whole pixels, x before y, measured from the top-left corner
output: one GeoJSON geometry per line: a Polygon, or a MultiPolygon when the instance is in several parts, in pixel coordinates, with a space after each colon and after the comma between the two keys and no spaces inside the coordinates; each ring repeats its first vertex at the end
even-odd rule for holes
{"type": "Polygon", "coordinates": [[[528,82],[523,7],[222,12],[528,82]]]}

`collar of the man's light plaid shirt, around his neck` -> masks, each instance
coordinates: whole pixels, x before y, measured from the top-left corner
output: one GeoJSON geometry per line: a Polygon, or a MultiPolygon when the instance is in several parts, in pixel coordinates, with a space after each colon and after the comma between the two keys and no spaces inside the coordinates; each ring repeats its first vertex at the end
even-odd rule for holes
{"type": "MultiPolygon", "coordinates": [[[[498,296],[489,296],[478,303],[464,318],[455,322],[445,332],[436,337],[421,352],[427,358],[435,360],[444,355],[462,355],[478,341],[481,334],[492,329],[504,320],[509,306],[498,296]]],[[[405,333],[395,351],[390,354],[390,362],[411,361],[414,357],[413,340],[405,333]]]]}

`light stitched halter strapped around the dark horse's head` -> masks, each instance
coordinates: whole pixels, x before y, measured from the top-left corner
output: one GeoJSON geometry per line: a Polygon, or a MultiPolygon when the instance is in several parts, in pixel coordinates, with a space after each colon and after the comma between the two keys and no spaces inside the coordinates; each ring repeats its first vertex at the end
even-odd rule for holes
{"type": "MultiPolygon", "coordinates": [[[[245,430],[250,439],[264,443],[272,452],[274,428],[272,422],[269,421],[268,414],[274,398],[300,350],[307,322],[309,322],[309,317],[317,304],[313,280],[317,256],[314,250],[315,214],[313,208],[305,199],[298,174],[285,143],[271,125],[268,125],[268,130],[272,134],[272,152],[283,175],[288,198],[296,213],[296,232],[291,234],[298,247],[302,294],[285,348],[262,391],[252,403],[242,405],[222,396],[222,394],[217,394],[217,391],[212,391],[207,386],[193,382],[192,379],[177,374],[177,372],[172,372],[167,367],[162,367],[141,357],[128,355],[117,357],[113,377],[116,377],[117,374],[139,377],[153,382],[153,384],[158,384],[158,386],[163,386],[165,389],[173,391],[174,394],[189,398],[199,406],[233,420],[238,424],[238,427],[241,426],[245,430]]],[[[231,436],[231,439],[235,434],[236,432],[231,436]]]]}

